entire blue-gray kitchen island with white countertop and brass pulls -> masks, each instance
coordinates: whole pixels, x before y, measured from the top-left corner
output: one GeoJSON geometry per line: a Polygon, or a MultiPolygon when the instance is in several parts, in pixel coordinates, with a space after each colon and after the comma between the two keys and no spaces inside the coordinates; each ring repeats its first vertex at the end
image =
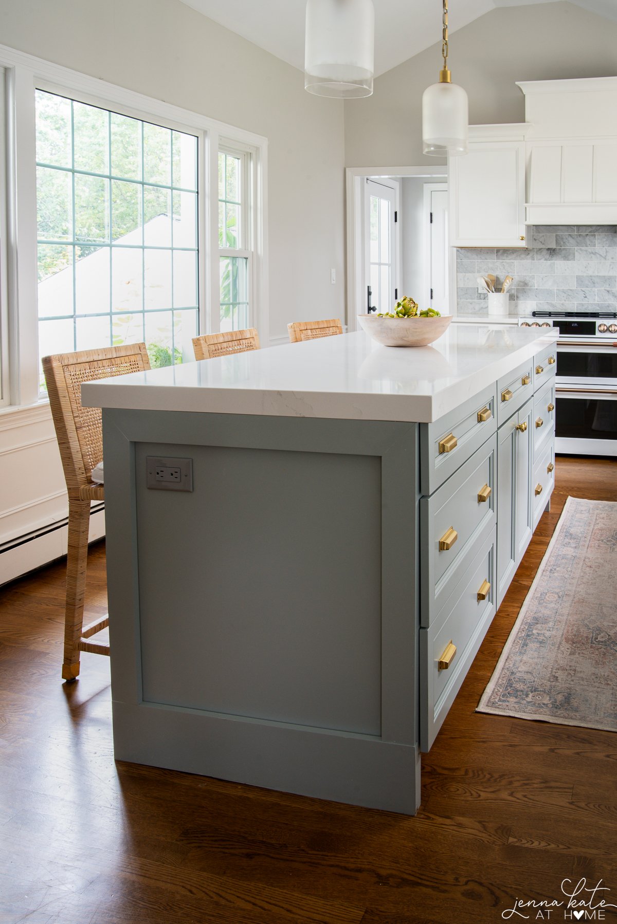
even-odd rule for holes
{"type": "Polygon", "coordinates": [[[549,501],[555,340],[344,334],[84,383],[117,759],[413,814],[549,501]]]}

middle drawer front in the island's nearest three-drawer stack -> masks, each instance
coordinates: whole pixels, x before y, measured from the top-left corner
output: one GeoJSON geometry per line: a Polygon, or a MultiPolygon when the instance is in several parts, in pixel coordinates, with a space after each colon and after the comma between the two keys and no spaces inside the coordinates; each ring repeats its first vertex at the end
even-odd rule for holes
{"type": "Polygon", "coordinates": [[[469,554],[495,525],[494,434],[436,491],[420,502],[422,625],[430,625],[463,574],[469,554]]]}

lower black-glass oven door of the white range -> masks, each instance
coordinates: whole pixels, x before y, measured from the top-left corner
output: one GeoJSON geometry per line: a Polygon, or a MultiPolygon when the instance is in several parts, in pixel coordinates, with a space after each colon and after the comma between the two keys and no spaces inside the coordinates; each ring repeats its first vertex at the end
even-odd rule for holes
{"type": "Polygon", "coordinates": [[[555,451],[617,456],[617,385],[556,384],[555,451]]]}

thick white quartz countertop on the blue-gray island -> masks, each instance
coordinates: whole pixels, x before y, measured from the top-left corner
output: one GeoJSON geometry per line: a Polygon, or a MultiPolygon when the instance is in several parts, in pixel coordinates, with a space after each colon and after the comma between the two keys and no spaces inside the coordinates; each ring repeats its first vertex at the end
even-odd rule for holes
{"type": "Polygon", "coordinates": [[[90,407],[430,422],[557,339],[551,331],[451,324],[433,346],[342,334],[83,383],[90,407]]]}

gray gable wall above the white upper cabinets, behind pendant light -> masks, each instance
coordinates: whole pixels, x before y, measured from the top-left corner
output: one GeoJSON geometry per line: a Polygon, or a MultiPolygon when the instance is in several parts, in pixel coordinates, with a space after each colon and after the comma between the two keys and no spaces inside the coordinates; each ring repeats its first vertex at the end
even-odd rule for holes
{"type": "MultiPolygon", "coordinates": [[[[617,74],[617,23],[570,3],[502,7],[450,35],[452,79],[474,124],[524,121],[516,80],[617,74]]],[[[422,153],[422,93],[438,79],[440,43],[393,67],[375,92],[345,103],[348,166],[438,164],[422,153]]]]}

